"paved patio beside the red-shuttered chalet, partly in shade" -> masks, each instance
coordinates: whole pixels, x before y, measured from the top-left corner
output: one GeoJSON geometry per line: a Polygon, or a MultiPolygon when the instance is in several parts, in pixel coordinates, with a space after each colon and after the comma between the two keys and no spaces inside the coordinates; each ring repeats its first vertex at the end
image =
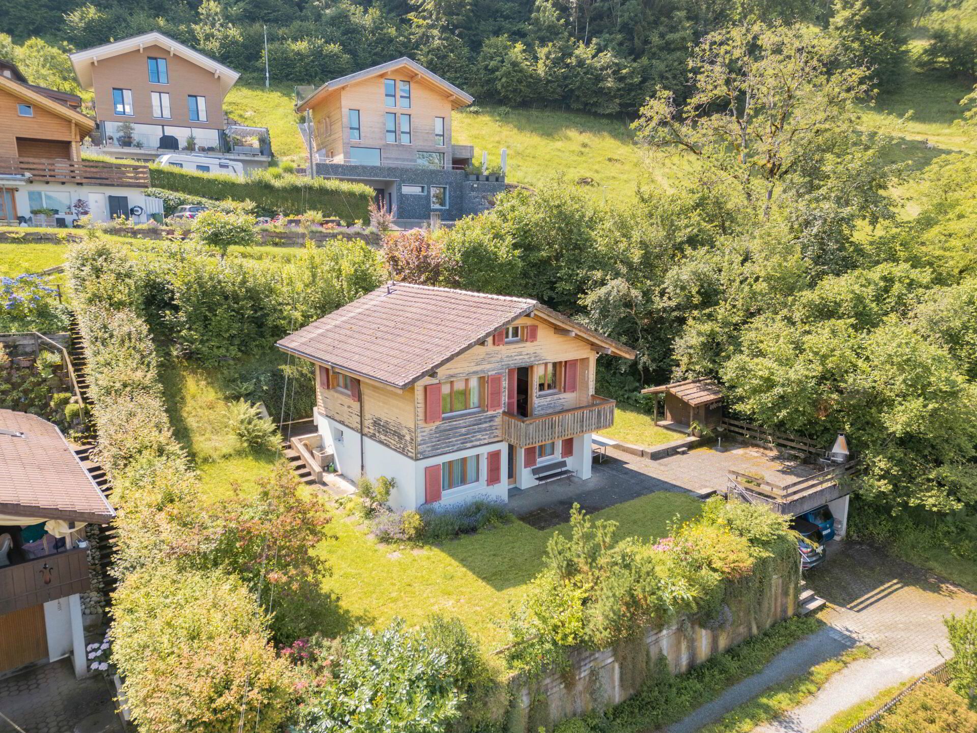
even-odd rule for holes
{"type": "Polygon", "coordinates": [[[588,513],[653,492],[682,492],[705,498],[726,486],[730,470],[750,473],[778,484],[817,473],[814,465],[797,463],[775,451],[745,444],[727,444],[724,451],[701,448],[685,455],[653,460],[609,448],[603,463],[594,463],[587,481],[575,477],[551,481],[525,491],[509,491],[509,509],[538,530],[562,524],[574,503],[588,513]]]}

